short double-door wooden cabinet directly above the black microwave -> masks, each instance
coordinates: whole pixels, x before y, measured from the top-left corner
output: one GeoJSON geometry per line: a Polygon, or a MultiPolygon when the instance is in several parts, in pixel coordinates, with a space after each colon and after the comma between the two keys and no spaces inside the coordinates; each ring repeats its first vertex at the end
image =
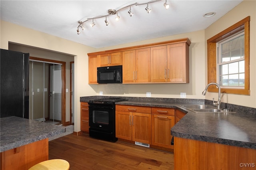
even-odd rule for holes
{"type": "Polygon", "coordinates": [[[122,65],[122,52],[100,55],[100,67],[122,65]]]}

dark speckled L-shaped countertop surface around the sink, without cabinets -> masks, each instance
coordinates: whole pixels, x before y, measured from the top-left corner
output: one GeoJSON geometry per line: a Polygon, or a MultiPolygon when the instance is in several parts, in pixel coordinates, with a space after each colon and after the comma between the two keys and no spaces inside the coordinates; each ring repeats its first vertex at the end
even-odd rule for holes
{"type": "MultiPolygon", "coordinates": [[[[98,96],[97,96],[98,97],[98,96]]],[[[80,97],[87,102],[88,97],[80,97]]],[[[186,115],[171,129],[171,134],[205,142],[256,149],[256,109],[230,105],[236,113],[194,113],[181,105],[208,104],[202,99],[166,99],[129,97],[128,101],[116,102],[116,105],[135,105],[147,107],[168,107],[179,109],[186,115]]],[[[210,101],[211,102],[211,101],[210,101]]],[[[222,103],[222,108],[225,105],[222,103]]]]}

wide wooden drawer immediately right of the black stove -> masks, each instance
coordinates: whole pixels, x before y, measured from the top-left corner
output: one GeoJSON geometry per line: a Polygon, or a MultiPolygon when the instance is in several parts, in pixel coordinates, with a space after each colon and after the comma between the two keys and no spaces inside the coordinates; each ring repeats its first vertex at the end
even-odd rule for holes
{"type": "Polygon", "coordinates": [[[132,106],[132,105],[116,105],[116,111],[149,113],[149,114],[151,114],[151,107],[132,106]]]}

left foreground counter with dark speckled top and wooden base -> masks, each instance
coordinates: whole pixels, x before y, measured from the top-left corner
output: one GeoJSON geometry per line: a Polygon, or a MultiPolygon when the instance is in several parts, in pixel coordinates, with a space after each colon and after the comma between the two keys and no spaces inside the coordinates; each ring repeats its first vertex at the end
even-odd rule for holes
{"type": "Polygon", "coordinates": [[[48,160],[48,138],[65,127],[20,117],[0,119],[1,170],[25,170],[48,160]]]}

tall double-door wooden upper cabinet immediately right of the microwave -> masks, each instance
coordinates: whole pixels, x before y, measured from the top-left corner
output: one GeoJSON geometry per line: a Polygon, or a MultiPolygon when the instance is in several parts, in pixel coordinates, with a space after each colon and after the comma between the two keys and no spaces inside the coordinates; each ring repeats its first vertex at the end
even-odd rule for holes
{"type": "Polygon", "coordinates": [[[150,48],[123,51],[123,83],[150,82],[150,48]]]}

